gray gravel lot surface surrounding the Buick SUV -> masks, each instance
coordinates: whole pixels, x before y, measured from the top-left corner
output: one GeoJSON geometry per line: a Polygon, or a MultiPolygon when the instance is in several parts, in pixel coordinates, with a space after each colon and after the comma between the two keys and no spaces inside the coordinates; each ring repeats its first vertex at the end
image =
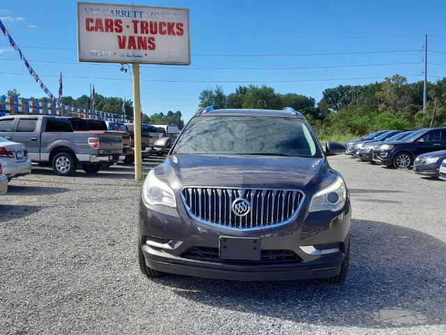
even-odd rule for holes
{"type": "Polygon", "coordinates": [[[345,155],[330,163],[353,202],[340,287],[148,280],[132,167],[34,169],[0,198],[0,333],[446,334],[446,182],[345,155]]]}

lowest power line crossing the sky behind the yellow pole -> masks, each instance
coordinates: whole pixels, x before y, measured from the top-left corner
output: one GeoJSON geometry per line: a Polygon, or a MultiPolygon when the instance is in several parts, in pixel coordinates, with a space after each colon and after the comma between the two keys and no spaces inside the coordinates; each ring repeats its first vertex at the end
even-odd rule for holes
{"type": "MultiPolygon", "coordinates": [[[[1,75],[29,75],[29,73],[6,73],[0,72],[1,75]]],[[[406,77],[420,77],[421,75],[406,75],[406,77]]],[[[40,77],[59,77],[59,75],[40,75],[40,77]]],[[[130,79],[125,78],[107,78],[107,77],[81,77],[81,76],[64,76],[66,78],[75,79],[94,79],[94,80],[124,80],[130,81],[130,79]]],[[[323,79],[306,79],[306,80],[141,80],[141,82],[188,82],[188,83],[203,83],[203,84],[214,84],[214,83],[252,83],[252,84],[263,84],[263,83],[277,83],[277,82],[326,82],[334,80],[364,80],[364,79],[382,79],[385,76],[380,77],[349,77],[349,78],[323,78],[323,79]]]]}

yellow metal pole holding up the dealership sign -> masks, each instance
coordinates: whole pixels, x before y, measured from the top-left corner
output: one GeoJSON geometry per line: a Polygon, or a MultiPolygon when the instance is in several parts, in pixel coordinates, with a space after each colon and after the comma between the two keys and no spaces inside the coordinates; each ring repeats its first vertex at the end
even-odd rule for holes
{"type": "Polygon", "coordinates": [[[133,123],[134,123],[134,179],[142,179],[141,157],[141,100],[139,96],[139,63],[132,64],[133,69],[133,123]]]}

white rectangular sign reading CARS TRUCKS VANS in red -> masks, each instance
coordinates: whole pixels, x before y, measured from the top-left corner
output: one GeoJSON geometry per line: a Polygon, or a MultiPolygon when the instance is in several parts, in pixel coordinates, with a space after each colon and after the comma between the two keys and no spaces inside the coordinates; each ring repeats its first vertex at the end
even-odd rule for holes
{"type": "Polygon", "coordinates": [[[189,9],[77,3],[79,61],[190,64],[189,9]]]}

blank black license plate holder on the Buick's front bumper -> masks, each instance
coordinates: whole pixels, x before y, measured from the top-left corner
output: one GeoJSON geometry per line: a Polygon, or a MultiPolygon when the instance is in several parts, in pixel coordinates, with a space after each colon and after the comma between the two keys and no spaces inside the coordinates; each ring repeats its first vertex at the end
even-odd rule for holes
{"type": "Polygon", "coordinates": [[[222,260],[261,260],[261,239],[258,237],[220,236],[222,260]]]}

